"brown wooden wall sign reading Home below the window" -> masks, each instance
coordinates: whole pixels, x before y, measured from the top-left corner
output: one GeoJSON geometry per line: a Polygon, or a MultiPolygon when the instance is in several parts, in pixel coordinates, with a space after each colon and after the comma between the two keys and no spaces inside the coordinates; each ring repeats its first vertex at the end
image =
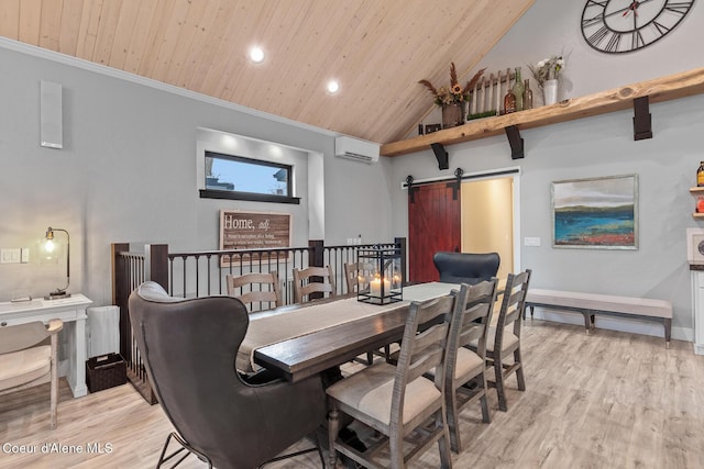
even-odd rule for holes
{"type": "MultiPolygon", "coordinates": [[[[290,213],[245,212],[241,210],[220,211],[220,249],[277,249],[290,247],[290,213]]],[[[286,258],[287,252],[278,258],[286,258]]],[[[258,261],[258,255],[223,256],[221,266],[240,261],[258,261]]],[[[271,256],[276,257],[276,256],[271,256]]],[[[262,253],[261,260],[270,260],[268,253],[262,253]]]]}

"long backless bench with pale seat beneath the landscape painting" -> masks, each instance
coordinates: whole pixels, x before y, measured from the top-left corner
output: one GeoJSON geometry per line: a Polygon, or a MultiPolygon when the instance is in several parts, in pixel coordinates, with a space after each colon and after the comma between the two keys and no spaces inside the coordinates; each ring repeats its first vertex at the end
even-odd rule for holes
{"type": "Polygon", "coordinates": [[[576,291],[529,289],[526,297],[526,306],[530,308],[531,319],[535,306],[581,313],[584,316],[584,327],[587,334],[594,328],[594,315],[596,314],[609,314],[620,317],[636,316],[638,319],[662,322],[664,326],[666,347],[670,348],[672,303],[669,301],[581,293],[576,291]]]}

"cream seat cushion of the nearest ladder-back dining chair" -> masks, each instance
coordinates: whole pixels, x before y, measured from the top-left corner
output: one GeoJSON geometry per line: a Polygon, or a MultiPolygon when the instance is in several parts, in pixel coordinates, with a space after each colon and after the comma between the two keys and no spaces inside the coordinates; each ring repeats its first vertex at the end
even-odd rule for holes
{"type": "MultiPolygon", "coordinates": [[[[388,425],[395,373],[396,367],[393,365],[377,362],[332,384],[328,388],[327,393],[352,409],[388,425]]],[[[441,402],[441,397],[440,390],[429,379],[421,377],[409,382],[406,387],[404,401],[404,423],[410,422],[416,415],[431,406],[433,402],[441,402]]]]}

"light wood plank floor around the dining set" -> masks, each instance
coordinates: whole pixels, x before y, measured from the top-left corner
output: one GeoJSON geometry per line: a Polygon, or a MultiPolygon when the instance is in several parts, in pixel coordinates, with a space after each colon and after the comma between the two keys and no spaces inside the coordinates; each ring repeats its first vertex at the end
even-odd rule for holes
{"type": "MultiPolygon", "coordinates": [[[[674,340],[668,350],[658,337],[586,336],[580,326],[528,320],[522,348],[527,391],[512,378],[504,413],[492,390],[491,424],[481,423],[479,405],[462,413],[466,450],[453,456],[455,468],[704,468],[704,357],[692,344],[674,340]]],[[[130,384],[74,400],[62,382],[54,432],[47,389],[0,399],[0,468],[152,468],[172,429],[130,384]],[[84,453],[41,454],[45,443],[84,453]],[[87,454],[96,443],[111,453],[87,454]],[[7,444],[38,453],[8,454],[7,444]]],[[[438,462],[433,446],[414,467],[438,462]]],[[[190,457],[182,467],[206,466],[190,457]]],[[[315,456],[270,466],[317,467],[315,456]]]]}

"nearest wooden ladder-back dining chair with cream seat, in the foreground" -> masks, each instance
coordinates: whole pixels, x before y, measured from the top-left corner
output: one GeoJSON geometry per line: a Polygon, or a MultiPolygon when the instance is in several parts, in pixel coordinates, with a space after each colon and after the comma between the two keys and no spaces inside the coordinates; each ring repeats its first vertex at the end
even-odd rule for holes
{"type": "Polygon", "coordinates": [[[405,468],[436,442],[441,467],[452,467],[443,373],[453,304],[452,295],[411,302],[398,364],[377,361],[327,389],[330,467],[341,453],[365,467],[405,468]],[[424,377],[433,368],[435,381],[424,377]],[[344,443],[338,437],[338,427],[345,416],[373,428],[380,437],[369,442],[364,451],[344,443]],[[415,429],[418,435],[410,440],[407,437],[415,429]],[[415,447],[405,451],[405,443],[415,447]],[[388,462],[380,457],[385,448],[388,462]]]}

